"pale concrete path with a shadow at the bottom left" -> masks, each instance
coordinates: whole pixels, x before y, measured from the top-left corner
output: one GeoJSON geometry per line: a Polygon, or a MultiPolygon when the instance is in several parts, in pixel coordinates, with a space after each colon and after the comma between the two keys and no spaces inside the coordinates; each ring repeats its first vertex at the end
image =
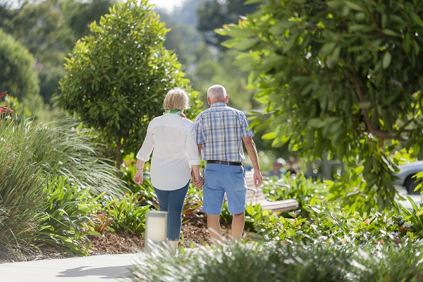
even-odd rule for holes
{"type": "Polygon", "coordinates": [[[95,282],[130,281],[128,268],[142,259],[143,253],[97,255],[68,259],[0,264],[1,282],[95,282]]]}

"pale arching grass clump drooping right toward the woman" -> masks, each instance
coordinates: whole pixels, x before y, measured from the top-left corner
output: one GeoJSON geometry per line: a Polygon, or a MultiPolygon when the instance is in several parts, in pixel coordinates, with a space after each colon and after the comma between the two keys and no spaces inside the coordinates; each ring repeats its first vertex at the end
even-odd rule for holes
{"type": "Polygon", "coordinates": [[[99,154],[101,144],[90,129],[82,128],[71,118],[39,125],[33,133],[37,142],[32,148],[34,161],[49,176],[65,176],[82,188],[109,197],[123,194],[125,184],[117,177],[113,162],[99,154]]]}

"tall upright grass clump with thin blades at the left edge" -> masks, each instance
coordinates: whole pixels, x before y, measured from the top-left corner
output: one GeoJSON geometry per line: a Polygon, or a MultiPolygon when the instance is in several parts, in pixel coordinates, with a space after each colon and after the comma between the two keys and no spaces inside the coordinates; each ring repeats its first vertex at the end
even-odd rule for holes
{"type": "Polygon", "coordinates": [[[0,247],[26,246],[37,221],[45,192],[42,169],[32,159],[35,130],[29,121],[0,122],[0,247]]]}

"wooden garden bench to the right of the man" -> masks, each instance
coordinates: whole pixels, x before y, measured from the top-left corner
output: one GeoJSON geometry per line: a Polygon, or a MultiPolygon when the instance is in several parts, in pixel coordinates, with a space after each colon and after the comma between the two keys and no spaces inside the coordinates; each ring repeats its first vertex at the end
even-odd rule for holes
{"type": "Polygon", "coordinates": [[[253,171],[245,171],[245,181],[247,183],[247,195],[245,196],[245,202],[247,204],[260,204],[262,209],[270,209],[272,212],[288,212],[298,209],[298,201],[295,199],[269,201],[266,200],[266,196],[263,194],[262,188],[256,188],[254,185],[253,171]]]}

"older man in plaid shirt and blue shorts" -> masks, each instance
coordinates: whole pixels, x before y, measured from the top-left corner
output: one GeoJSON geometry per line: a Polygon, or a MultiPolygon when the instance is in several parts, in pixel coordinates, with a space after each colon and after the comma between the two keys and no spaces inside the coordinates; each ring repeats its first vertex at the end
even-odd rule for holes
{"type": "Polygon", "coordinates": [[[204,168],[203,212],[207,214],[207,228],[214,241],[221,240],[219,216],[224,194],[228,209],[233,214],[232,237],[241,240],[244,230],[245,171],[243,168],[243,142],[254,168],[255,186],[262,185],[259,158],[254,133],[242,111],[226,106],[229,96],[221,85],[207,90],[210,108],[195,118],[197,145],[202,159],[207,161],[204,168]]]}

